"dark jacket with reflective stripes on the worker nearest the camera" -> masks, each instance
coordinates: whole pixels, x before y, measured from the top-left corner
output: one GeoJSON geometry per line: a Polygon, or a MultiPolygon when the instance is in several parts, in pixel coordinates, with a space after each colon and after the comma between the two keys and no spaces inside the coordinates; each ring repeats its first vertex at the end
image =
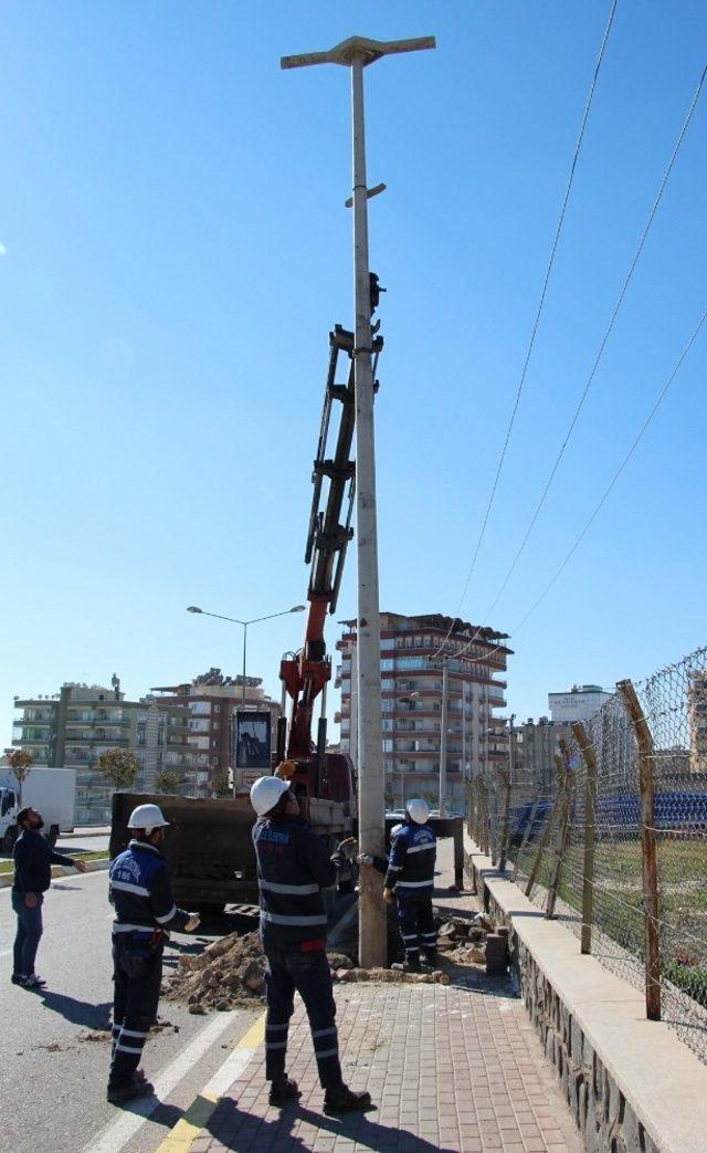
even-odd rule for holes
{"type": "Polygon", "coordinates": [[[324,948],[327,914],[322,889],[336,883],[324,841],[301,817],[261,816],[253,826],[260,887],[263,947],[324,948]]]}

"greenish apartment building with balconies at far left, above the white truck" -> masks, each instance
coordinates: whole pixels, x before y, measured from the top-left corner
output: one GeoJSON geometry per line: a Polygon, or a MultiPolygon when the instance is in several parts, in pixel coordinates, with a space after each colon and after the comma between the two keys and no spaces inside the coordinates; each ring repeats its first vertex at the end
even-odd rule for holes
{"type": "Polygon", "coordinates": [[[137,791],[155,787],[158,774],[173,770],[180,789],[197,794],[206,786],[188,745],[189,710],[177,702],[145,696],[127,701],[113,688],[68,681],[52,696],[15,700],[13,745],[29,749],[36,764],[76,769],[76,822],[111,820],[111,789],[97,771],[109,748],[131,749],[139,761],[137,791]]]}

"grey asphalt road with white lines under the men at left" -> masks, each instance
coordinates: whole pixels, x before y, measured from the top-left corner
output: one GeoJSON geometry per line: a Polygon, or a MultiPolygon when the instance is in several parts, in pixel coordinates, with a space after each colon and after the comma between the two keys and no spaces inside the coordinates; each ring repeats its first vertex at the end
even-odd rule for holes
{"type": "MultiPolygon", "coordinates": [[[[90,838],[88,845],[97,838],[90,838]]],[[[76,839],[67,850],[84,845],[76,839]]],[[[106,1102],[109,1039],[111,920],[107,875],[71,874],[46,895],[45,934],[37,971],[46,989],[10,984],[15,917],[10,890],[0,890],[0,1151],[2,1153],[150,1153],[188,1108],[245,1033],[258,1011],[195,1017],[162,1000],[162,1027],[150,1038],[144,1068],[161,1088],[140,1103],[147,1121],[106,1102]],[[98,1033],[98,1039],[91,1034],[98,1033]],[[135,1118],[135,1120],[132,1120],[135,1118]],[[121,1122],[119,1125],[117,1122],[121,1122]]],[[[183,949],[200,950],[225,932],[244,927],[225,918],[195,937],[173,936],[166,972],[183,949]],[[208,929],[212,929],[210,933],[208,929]]]]}

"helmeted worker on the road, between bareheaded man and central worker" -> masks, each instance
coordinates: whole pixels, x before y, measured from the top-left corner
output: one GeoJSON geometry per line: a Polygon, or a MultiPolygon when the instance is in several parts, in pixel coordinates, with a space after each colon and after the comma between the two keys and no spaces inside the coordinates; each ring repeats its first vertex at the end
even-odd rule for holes
{"type": "Polygon", "coordinates": [[[107,1097],[114,1105],[153,1092],[138,1064],[157,1018],[167,930],[191,933],[199,924],[197,913],[177,909],[172,896],[169,869],[159,850],[168,823],[158,805],[138,805],[128,821],[132,839],[111,865],[115,988],[107,1097]]]}

